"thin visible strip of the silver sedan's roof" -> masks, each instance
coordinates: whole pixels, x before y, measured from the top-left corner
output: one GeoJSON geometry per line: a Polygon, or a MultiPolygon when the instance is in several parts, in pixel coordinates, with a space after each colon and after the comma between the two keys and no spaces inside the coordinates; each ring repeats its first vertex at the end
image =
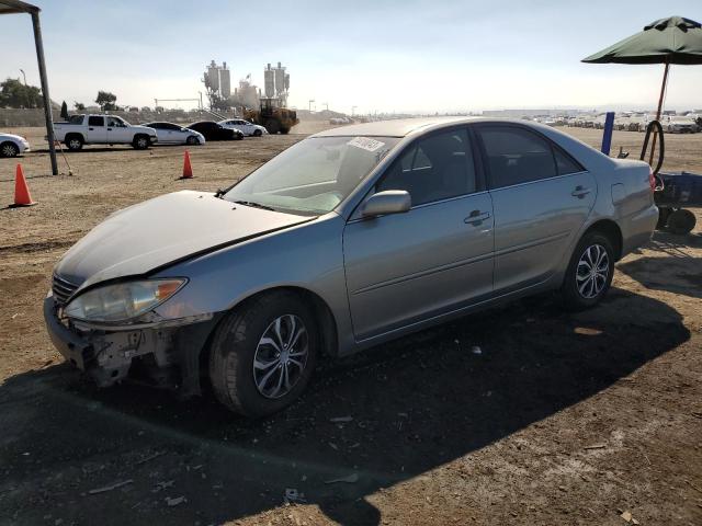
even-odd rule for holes
{"type": "Polygon", "coordinates": [[[389,121],[376,121],[374,123],[352,124],[340,128],[327,129],[315,134],[313,137],[346,137],[346,136],[365,136],[365,137],[407,137],[408,135],[438,129],[442,127],[453,126],[456,124],[476,123],[476,122],[499,122],[499,123],[519,123],[532,124],[525,121],[506,119],[506,118],[486,118],[486,117],[416,117],[416,118],[397,118],[389,121]]]}

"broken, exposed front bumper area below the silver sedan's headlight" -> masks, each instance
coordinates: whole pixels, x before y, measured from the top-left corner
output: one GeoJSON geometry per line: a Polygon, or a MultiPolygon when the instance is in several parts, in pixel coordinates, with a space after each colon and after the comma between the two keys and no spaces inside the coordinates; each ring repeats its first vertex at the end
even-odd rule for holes
{"type": "Polygon", "coordinates": [[[59,315],[49,294],[44,320],[52,343],[98,386],[134,375],[183,396],[200,395],[200,356],[219,316],[105,328],[70,323],[59,315]]]}

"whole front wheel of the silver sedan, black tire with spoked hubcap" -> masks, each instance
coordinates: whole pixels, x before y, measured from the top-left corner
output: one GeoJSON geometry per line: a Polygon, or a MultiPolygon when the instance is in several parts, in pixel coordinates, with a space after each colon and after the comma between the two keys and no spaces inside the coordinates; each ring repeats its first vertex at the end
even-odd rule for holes
{"type": "Polygon", "coordinates": [[[215,397],[246,416],[284,409],[307,387],[319,341],[315,317],[297,295],[278,291],[252,299],[231,311],[213,336],[210,380],[215,397]],[[288,355],[288,348],[295,353],[288,355]]]}

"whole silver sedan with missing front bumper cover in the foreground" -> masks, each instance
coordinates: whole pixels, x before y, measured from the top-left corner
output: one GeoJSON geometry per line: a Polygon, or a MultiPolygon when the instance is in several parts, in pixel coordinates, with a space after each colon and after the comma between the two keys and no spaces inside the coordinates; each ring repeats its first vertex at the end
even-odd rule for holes
{"type": "Polygon", "coordinates": [[[227,190],[113,214],[58,262],[44,316],[100,386],[138,369],[188,396],[206,378],[264,415],[320,359],[544,290],[597,305],[650,238],[653,185],[645,162],[533,123],[330,129],[227,190]]]}

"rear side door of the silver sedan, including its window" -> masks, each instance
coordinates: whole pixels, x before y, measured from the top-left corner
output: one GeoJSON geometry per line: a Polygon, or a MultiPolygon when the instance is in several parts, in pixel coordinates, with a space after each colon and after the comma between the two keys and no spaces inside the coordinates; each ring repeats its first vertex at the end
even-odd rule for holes
{"type": "Polygon", "coordinates": [[[495,211],[495,291],[536,285],[587,220],[597,183],[575,159],[519,124],[476,126],[495,211]]]}

